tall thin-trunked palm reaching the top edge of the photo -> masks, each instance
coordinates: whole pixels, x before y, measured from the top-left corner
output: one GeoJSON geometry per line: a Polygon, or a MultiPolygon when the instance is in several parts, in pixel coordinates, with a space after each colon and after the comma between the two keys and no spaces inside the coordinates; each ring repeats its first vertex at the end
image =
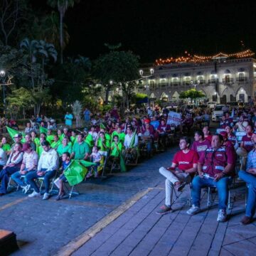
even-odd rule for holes
{"type": "Polygon", "coordinates": [[[63,64],[63,18],[68,7],[73,7],[75,2],[79,1],[80,0],[48,0],[48,4],[53,8],[57,7],[60,13],[60,64],[63,64]]]}

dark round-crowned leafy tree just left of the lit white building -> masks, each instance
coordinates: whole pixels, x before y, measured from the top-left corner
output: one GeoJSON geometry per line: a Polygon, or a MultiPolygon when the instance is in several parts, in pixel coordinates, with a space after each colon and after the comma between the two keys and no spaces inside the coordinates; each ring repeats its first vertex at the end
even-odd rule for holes
{"type": "Polygon", "coordinates": [[[124,93],[124,102],[129,105],[130,97],[136,85],[133,80],[139,78],[139,57],[131,51],[119,51],[119,46],[111,48],[109,46],[110,53],[102,55],[95,60],[94,75],[105,87],[106,104],[110,90],[114,85],[121,87],[124,93]],[[113,85],[110,84],[110,80],[114,81],[113,85]]]}

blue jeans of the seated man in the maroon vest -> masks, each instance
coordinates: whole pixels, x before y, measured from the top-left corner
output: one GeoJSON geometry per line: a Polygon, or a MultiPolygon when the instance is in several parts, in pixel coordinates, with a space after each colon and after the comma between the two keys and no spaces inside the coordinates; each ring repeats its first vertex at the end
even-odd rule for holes
{"type": "Polygon", "coordinates": [[[201,178],[196,176],[192,181],[192,202],[194,206],[200,206],[201,188],[216,187],[218,189],[218,208],[226,210],[228,203],[228,185],[232,182],[231,177],[220,178],[217,182],[213,178],[201,178]]]}

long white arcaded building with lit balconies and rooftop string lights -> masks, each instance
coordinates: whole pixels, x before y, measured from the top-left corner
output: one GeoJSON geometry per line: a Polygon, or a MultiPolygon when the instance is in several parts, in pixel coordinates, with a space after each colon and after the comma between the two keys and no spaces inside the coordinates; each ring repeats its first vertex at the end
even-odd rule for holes
{"type": "Polygon", "coordinates": [[[201,90],[208,101],[249,102],[256,96],[256,59],[245,56],[219,53],[206,60],[158,63],[154,66],[154,75],[144,70],[146,78],[139,92],[146,93],[150,100],[170,101],[178,100],[182,91],[195,88],[201,90]]]}

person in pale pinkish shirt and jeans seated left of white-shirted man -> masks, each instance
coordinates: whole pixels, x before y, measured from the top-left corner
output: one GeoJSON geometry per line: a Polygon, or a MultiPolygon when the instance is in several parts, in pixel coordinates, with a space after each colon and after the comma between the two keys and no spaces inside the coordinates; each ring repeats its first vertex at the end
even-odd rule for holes
{"type": "Polygon", "coordinates": [[[26,175],[29,171],[36,171],[36,166],[38,164],[38,154],[34,151],[31,147],[31,144],[24,143],[22,147],[23,154],[23,161],[21,164],[20,171],[16,171],[14,174],[11,175],[11,178],[23,188],[24,193],[28,191],[30,185],[27,185],[26,175]],[[25,180],[21,180],[21,176],[25,175],[25,180]]]}

